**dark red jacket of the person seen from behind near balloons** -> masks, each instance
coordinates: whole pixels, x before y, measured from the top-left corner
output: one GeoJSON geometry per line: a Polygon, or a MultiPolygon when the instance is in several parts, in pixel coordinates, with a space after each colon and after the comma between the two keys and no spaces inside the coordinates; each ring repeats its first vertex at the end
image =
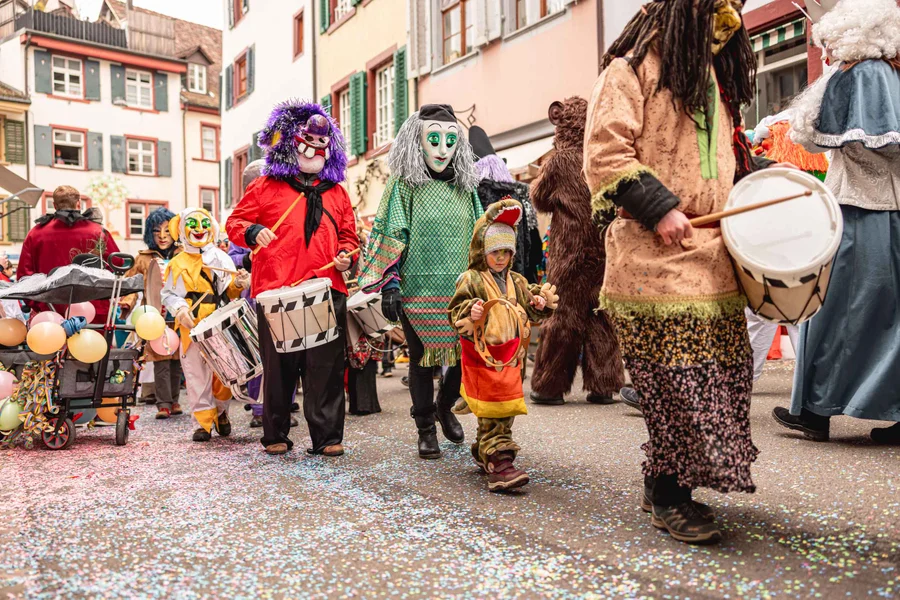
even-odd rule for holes
{"type": "MultiPolygon", "coordinates": [[[[104,260],[119,251],[109,232],[93,221],[79,221],[69,227],[59,219],[52,219],[46,225],[34,227],[25,236],[16,279],[21,281],[23,277],[35,273],[47,275],[56,267],[71,265],[72,259],[79,254],[96,254],[98,246],[102,246],[104,260]]],[[[50,310],[49,306],[40,302],[25,304],[32,311],[50,310]]],[[[106,323],[109,300],[97,300],[91,304],[97,310],[94,323],[106,323]]],[[[56,312],[64,315],[68,307],[58,305],[55,308],[56,312]]]]}

